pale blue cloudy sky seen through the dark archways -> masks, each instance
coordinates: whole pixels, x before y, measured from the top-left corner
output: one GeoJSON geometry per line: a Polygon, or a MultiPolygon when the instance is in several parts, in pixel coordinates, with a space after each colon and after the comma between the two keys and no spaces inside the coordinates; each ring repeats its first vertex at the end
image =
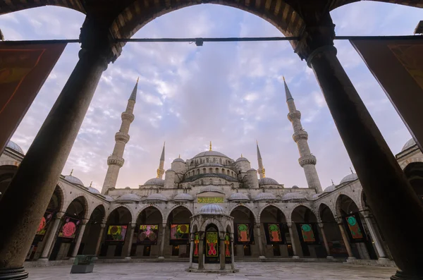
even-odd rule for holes
{"type": "MultiPolygon", "coordinates": [[[[362,1],[331,12],[336,35],[412,35],[422,9],[362,1]]],[[[44,6],[0,16],[5,39],[76,39],[85,16],[44,6]]],[[[281,32],[237,8],[202,4],[182,8],[145,25],[133,38],[271,37],[281,32]]],[[[348,41],[336,41],[338,59],[355,85],[393,154],[411,138],[386,94],[348,41]]],[[[68,44],[12,140],[27,152],[78,61],[79,44],[68,44]]],[[[232,159],[240,154],[257,169],[259,142],[266,176],[290,188],[307,187],[298,147],[288,121],[285,76],[309,147],[317,157],[323,188],[353,167],[314,73],[288,42],[128,43],[104,71],[62,174],[101,190],[106,159],[114,148],[137,77],[135,121],[125,147],[116,188],[138,188],[154,178],[166,141],[164,169],[173,159],[213,150],[232,159]]]]}

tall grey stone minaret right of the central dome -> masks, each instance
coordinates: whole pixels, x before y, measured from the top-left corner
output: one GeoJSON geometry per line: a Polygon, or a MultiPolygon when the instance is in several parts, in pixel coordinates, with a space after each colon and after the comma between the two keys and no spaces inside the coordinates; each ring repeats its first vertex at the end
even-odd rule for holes
{"type": "Polygon", "coordinates": [[[283,78],[283,84],[285,85],[286,104],[288,104],[289,109],[288,120],[293,123],[293,140],[297,143],[298,151],[300,152],[298,163],[304,169],[308,187],[316,189],[317,193],[321,193],[321,185],[315,166],[317,159],[310,152],[309,145],[307,143],[308,134],[302,128],[300,121],[301,112],[295,108],[294,99],[290,94],[288,85],[286,85],[285,78],[283,78]]]}

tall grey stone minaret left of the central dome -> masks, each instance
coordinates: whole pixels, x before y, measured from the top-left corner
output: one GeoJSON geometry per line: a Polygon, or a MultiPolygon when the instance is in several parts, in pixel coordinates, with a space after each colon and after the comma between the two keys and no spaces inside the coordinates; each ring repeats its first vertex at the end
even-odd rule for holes
{"type": "Polygon", "coordinates": [[[138,89],[138,79],[137,83],[135,83],[135,87],[133,92],[130,94],[128,105],[126,106],[126,110],[122,113],[122,124],[121,129],[115,135],[115,147],[113,150],[113,154],[107,158],[107,165],[109,165],[109,169],[107,169],[106,178],[104,178],[102,194],[107,194],[109,188],[116,187],[116,181],[118,181],[118,174],[119,169],[123,166],[125,160],[123,159],[123,151],[125,150],[125,145],[129,141],[129,126],[130,123],[133,122],[135,116],[133,114],[135,100],[137,99],[137,89],[138,89]]]}

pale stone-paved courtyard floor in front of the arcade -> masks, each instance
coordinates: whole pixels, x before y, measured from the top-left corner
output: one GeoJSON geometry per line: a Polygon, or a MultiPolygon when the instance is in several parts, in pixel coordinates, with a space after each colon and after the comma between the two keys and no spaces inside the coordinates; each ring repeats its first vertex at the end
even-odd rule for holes
{"type": "Polygon", "coordinates": [[[185,272],[188,263],[95,264],[92,274],[70,274],[71,265],[28,268],[30,279],[102,279],[102,280],[264,280],[264,279],[389,279],[396,269],[351,264],[237,262],[237,274],[197,274],[185,272]]]}

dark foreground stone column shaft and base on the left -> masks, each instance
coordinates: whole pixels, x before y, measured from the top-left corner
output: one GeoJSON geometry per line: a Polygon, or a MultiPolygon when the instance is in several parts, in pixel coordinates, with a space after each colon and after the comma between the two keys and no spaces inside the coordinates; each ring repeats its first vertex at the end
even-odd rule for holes
{"type": "Polygon", "coordinates": [[[0,200],[0,279],[23,279],[23,262],[68,159],[107,61],[100,51],[80,60],[0,200]]]}

